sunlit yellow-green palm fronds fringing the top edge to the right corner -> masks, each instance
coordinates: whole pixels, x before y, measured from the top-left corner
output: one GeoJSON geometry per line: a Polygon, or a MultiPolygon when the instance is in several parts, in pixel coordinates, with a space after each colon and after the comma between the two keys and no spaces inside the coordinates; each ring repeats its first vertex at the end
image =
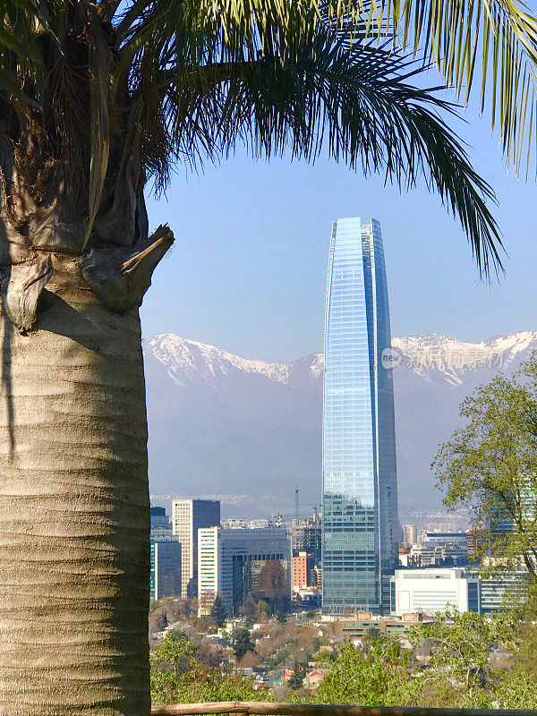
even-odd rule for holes
{"type": "MultiPolygon", "coordinates": [[[[126,59],[151,37],[173,62],[175,33],[192,62],[221,36],[228,49],[294,55],[297,38],[328,23],[357,41],[389,37],[435,65],[456,95],[489,109],[507,160],[518,170],[537,100],[537,16],[520,0],[134,0],[119,22],[126,59]]],[[[298,42],[300,44],[300,42],[298,42]]]]}

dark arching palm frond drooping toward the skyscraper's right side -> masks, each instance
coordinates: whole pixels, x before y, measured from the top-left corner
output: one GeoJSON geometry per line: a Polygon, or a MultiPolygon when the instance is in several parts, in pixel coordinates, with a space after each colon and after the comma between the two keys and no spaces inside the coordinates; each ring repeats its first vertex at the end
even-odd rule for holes
{"type": "Polygon", "coordinates": [[[494,194],[440,117],[455,114],[438,91],[409,83],[422,64],[377,43],[354,44],[329,30],[300,52],[224,61],[163,75],[169,147],[210,157],[242,141],[256,156],[313,161],[328,154],[365,175],[406,188],[424,179],[461,221],[483,275],[501,266],[494,194]]]}

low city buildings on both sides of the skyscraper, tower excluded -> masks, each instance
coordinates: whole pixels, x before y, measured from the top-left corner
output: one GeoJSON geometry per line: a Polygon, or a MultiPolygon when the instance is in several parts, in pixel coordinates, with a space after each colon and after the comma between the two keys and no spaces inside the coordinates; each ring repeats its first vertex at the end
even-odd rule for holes
{"type": "MultiPolygon", "coordinates": [[[[217,594],[229,617],[241,614],[248,599],[274,611],[321,606],[321,516],[286,524],[281,517],[246,522],[219,515],[216,500],[174,500],[171,520],[164,507],[151,507],[152,599],[196,598],[200,616],[210,614],[217,594]]],[[[431,532],[404,524],[388,575],[387,608],[330,609],[325,618],[346,624],[342,635],[356,636],[364,625],[403,628],[415,615],[422,619],[447,607],[491,614],[507,591],[524,590],[527,573],[521,567],[480,578],[471,561],[475,547],[471,530],[431,532]]]]}

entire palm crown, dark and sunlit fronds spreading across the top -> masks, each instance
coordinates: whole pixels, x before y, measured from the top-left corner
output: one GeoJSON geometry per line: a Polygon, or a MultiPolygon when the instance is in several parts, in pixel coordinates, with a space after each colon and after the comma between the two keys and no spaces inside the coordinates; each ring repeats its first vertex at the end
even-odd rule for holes
{"type": "Polygon", "coordinates": [[[499,266],[493,192],[447,124],[456,107],[419,75],[434,65],[441,86],[475,95],[519,166],[537,118],[537,19],[524,4],[4,0],[2,15],[0,126],[32,200],[53,185],[80,215],[77,250],[110,231],[103,215],[127,175],[135,194],[149,178],[159,190],[175,162],[243,142],[308,160],[325,147],[406,187],[422,177],[479,268],[499,266]]]}

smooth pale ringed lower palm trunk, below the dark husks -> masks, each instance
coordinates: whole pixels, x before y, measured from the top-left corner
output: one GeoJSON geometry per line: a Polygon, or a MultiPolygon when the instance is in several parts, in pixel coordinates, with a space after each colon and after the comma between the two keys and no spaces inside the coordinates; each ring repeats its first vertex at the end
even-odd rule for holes
{"type": "Polygon", "coordinates": [[[37,329],[0,324],[0,714],[148,716],[138,311],[52,260],[37,329]]]}

